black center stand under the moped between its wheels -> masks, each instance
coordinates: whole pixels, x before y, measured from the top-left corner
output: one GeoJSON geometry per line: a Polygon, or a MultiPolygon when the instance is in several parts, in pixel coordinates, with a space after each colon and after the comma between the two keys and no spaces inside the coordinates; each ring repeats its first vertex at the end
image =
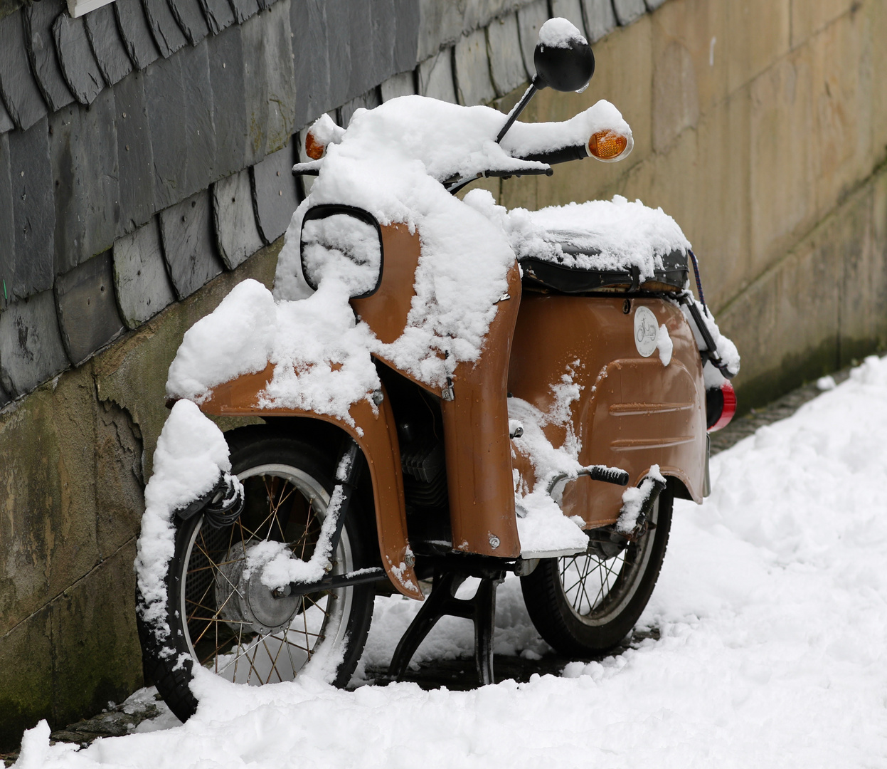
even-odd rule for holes
{"type": "Polygon", "coordinates": [[[457,599],[459,585],[470,576],[464,572],[436,572],[431,594],[397,644],[389,666],[389,676],[400,679],[406,672],[421,642],[447,614],[475,623],[475,665],[481,686],[493,683],[493,630],[496,627],[496,588],[505,579],[505,572],[481,578],[473,598],[457,599]]]}

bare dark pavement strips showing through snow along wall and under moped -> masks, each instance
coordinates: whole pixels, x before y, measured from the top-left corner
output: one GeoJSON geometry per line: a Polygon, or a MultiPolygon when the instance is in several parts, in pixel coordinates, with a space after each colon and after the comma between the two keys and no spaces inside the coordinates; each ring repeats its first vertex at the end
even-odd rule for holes
{"type": "MultiPolygon", "coordinates": [[[[840,384],[850,376],[850,369],[844,369],[833,374],[836,384],[840,384]]],[[[815,383],[805,384],[798,387],[777,400],[773,400],[763,408],[752,408],[749,414],[734,419],[723,430],[714,432],[711,435],[711,453],[718,454],[726,448],[734,446],[743,438],[753,435],[758,427],[765,424],[773,424],[780,419],[794,414],[798,408],[803,406],[808,400],[812,400],[820,394],[822,390],[815,383]]],[[[616,649],[611,650],[608,654],[601,654],[599,657],[591,659],[603,659],[612,654],[619,654],[625,649],[637,646],[646,638],[658,638],[658,631],[645,630],[632,632],[632,635],[625,638],[623,643],[616,649]]],[[[529,681],[534,674],[546,675],[552,673],[559,675],[561,670],[568,662],[574,662],[575,658],[560,657],[556,654],[547,654],[538,660],[526,660],[516,656],[496,656],[493,662],[496,680],[502,681],[506,678],[514,678],[515,681],[529,681]]],[[[389,681],[386,670],[367,670],[369,678],[375,683],[384,684],[389,681]]],[[[435,660],[420,665],[416,670],[409,670],[404,680],[412,681],[423,689],[436,689],[445,686],[450,690],[464,691],[473,689],[477,686],[477,677],[475,672],[475,661],[472,657],[464,657],[456,660],[435,660]]],[[[51,734],[52,741],[77,742],[82,745],[88,744],[97,737],[120,736],[130,733],[138,724],[147,718],[153,718],[158,715],[156,706],[146,704],[143,710],[137,710],[132,713],[126,713],[120,707],[112,708],[98,716],[79,721],[76,724],[67,726],[67,728],[53,732],[51,734]]],[[[11,766],[12,762],[18,756],[18,753],[4,754],[0,757],[4,759],[6,766],[11,766]]]]}

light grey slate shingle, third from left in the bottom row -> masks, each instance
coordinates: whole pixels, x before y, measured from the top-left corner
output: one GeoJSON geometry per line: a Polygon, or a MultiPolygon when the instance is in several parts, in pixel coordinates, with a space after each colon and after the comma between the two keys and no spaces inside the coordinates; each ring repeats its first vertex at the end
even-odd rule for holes
{"type": "Polygon", "coordinates": [[[156,218],[114,242],[114,289],[129,329],[136,329],[176,301],[156,218]]]}

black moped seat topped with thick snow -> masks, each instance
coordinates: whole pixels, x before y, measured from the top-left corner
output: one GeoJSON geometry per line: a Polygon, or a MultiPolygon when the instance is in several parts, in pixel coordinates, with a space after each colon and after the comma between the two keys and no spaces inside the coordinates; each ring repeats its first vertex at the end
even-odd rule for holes
{"type": "Polygon", "coordinates": [[[465,202],[505,228],[527,288],[573,294],[687,285],[690,243],[662,209],[616,195],[612,201],[506,210],[484,190],[467,194],[465,202]]]}

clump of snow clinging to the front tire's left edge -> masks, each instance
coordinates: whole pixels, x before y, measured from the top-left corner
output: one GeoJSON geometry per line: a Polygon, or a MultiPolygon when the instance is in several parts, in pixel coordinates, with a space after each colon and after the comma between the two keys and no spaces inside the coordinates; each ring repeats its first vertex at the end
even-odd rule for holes
{"type": "MultiPolygon", "coordinates": [[[[158,640],[169,637],[166,621],[167,565],[175,551],[175,511],[212,490],[220,477],[231,478],[228,444],[222,431],[190,400],[169,412],[154,451],[154,472],[145,488],[145,514],[136,544],[138,590],[145,604],[142,619],[158,640]]],[[[239,485],[239,481],[232,479],[239,485]]]]}

